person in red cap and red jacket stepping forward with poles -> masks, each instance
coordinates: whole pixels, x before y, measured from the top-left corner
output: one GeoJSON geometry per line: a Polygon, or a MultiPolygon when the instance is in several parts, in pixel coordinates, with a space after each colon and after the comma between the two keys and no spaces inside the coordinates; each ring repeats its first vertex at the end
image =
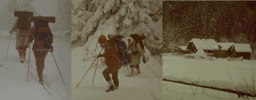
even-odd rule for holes
{"type": "Polygon", "coordinates": [[[120,58],[118,58],[118,51],[114,46],[113,42],[107,40],[106,36],[100,36],[98,38],[98,42],[102,48],[104,48],[103,54],[98,54],[97,57],[104,57],[105,64],[108,66],[105,70],[103,70],[102,74],[105,80],[108,82],[109,86],[106,92],[116,90],[119,87],[118,81],[118,70],[122,67],[122,63],[120,58]],[[109,74],[112,74],[112,82],[109,74]]]}

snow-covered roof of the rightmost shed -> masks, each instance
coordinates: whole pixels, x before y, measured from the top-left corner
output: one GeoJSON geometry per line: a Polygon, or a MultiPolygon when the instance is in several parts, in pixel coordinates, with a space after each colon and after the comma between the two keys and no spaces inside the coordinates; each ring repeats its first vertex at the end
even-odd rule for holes
{"type": "Polygon", "coordinates": [[[234,44],[233,48],[235,48],[236,52],[252,52],[250,44],[234,44]]]}

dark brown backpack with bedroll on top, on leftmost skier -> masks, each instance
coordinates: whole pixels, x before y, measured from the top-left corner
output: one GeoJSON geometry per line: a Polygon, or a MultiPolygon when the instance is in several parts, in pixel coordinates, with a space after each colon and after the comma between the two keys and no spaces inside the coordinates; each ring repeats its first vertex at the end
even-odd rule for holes
{"type": "Polygon", "coordinates": [[[18,29],[30,29],[31,23],[30,16],[33,16],[33,12],[14,11],[14,16],[18,17],[17,28],[18,29]]]}

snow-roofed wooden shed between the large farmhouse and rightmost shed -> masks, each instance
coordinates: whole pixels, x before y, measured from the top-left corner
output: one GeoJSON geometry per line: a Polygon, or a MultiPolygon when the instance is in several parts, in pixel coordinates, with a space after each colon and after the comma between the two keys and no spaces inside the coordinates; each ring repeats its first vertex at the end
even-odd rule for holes
{"type": "Polygon", "coordinates": [[[232,56],[232,47],[234,43],[218,43],[213,46],[213,54],[215,58],[228,58],[232,56]]]}

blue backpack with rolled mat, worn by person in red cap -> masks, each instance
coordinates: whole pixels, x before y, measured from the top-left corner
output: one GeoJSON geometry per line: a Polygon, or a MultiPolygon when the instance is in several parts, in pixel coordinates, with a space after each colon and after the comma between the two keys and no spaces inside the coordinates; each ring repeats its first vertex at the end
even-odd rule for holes
{"type": "Polygon", "coordinates": [[[132,62],[132,55],[126,52],[126,43],[122,40],[121,35],[108,34],[108,38],[113,42],[116,50],[118,51],[118,56],[122,60],[122,66],[128,66],[132,62]]]}

